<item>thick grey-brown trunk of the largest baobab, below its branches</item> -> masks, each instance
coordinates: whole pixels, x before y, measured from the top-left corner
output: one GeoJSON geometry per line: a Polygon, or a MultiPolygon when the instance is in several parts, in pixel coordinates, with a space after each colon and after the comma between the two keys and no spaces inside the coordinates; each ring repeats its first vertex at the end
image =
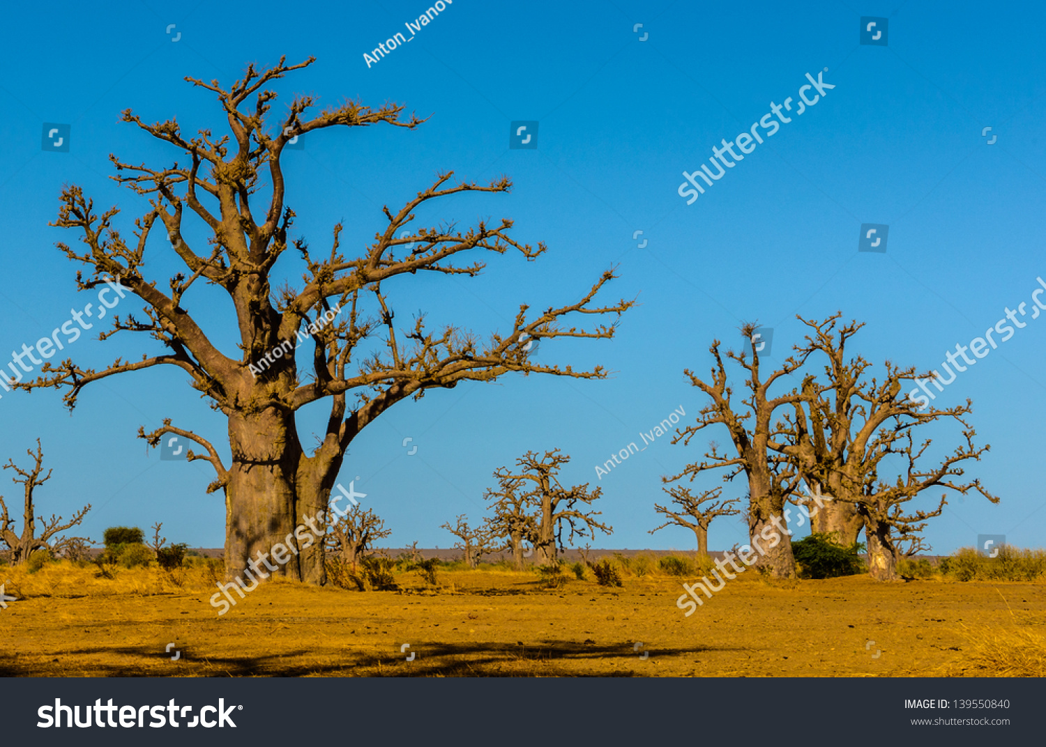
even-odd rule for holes
{"type": "MultiPolygon", "coordinates": [[[[263,578],[286,576],[323,583],[322,537],[308,527],[306,518],[325,509],[326,498],[321,497],[322,490],[316,489],[322,481],[308,485],[314,481],[299,480],[311,475],[301,474],[305,460],[293,416],[273,408],[250,416],[234,414],[229,418],[229,443],[232,466],[225,488],[226,580],[238,577],[249,585],[256,574],[251,571],[247,577],[245,573],[250,571],[247,563],[253,559],[263,578]],[[301,488],[306,488],[310,495],[300,495],[301,488]],[[315,537],[312,543],[295,536],[299,527],[305,528],[302,536],[315,537]],[[274,548],[282,562],[273,556],[274,548]],[[262,561],[263,556],[268,556],[268,565],[262,561]]],[[[321,521],[314,520],[314,524],[322,530],[321,521]]]]}

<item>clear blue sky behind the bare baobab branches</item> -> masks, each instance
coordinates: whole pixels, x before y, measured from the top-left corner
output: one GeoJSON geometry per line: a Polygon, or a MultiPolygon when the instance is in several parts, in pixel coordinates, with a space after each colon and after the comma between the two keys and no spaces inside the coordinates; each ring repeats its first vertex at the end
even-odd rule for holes
{"type": "MultiPolygon", "coordinates": [[[[572,457],[565,481],[604,490],[602,518],[615,533],[597,546],[690,547],[688,531],[646,531],[660,523],[653,509],[665,499],[659,476],[698,459],[697,445],[659,440],[598,482],[594,468],[676,407],[689,420],[704,404],[682,371],[707,372],[713,339],[740,346],[737,328],[757,320],[774,328],[779,360],[801,340],[795,314],[842,311],[866,323],[852,348],[869,360],[939,367],[948,350],[982,334],[1004,307],[1028,302],[1036,278],[1046,276],[1046,49],[1037,31],[1046,7],[754,3],[738,14],[683,2],[456,0],[370,68],[364,52],[408,33],[405,24],[428,4],[305,9],[263,1],[251,5],[257,22],[237,25],[240,7],[174,9],[142,0],[105,13],[69,2],[8,9],[0,30],[7,57],[0,79],[0,351],[32,345],[94,300],[75,291],[76,267],[53,247],[75,237],[47,226],[62,185],[82,186],[99,207],[118,205],[130,234],[146,208],[108,179],[108,155],[152,164],[174,158],[120,123],[123,109],[146,121],[177,115],[187,131],[218,132],[212,94],[183,76],[228,84],[248,62],[315,55],[313,67],[276,86],[277,109],[294,93],[312,92],[321,104],[392,100],[431,119],[413,132],[328,130],[306,139],[285,160],[296,235],[328,247],[342,220],[343,247],[363,247],[383,226],[382,205],[399,207],[437,171],[453,169],[478,181],[506,173],[515,189],[454,197],[423,212],[423,221],[505,216],[516,221],[516,238],[549,247],[532,263],[494,256],[472,280],[390,285],[400,319],[425,309],[433,323],[485,336],[508,329],[520,303],[543,309],[575,300],[612,264],[620,279],[606,300],[639,301],[613,341],[540,349],[543,361],[601,364],[614,372],[608,380],[469,383],[400,403],[369,426],[353,444],[341,482],[360,476],[357,490],[385,517],[394,545],[449,546],[438,526],[459,513],[479,519],[494,469],[528,449],[561,448],[572,457]],[[888,46],[859,44],[863,16],[888,19],[888,46]],[[836,88],[686,205],[677,193],[681,173],[706,162],[721,139],[748,131],[772,100],[795,97],[805,74],[819,71],[836,88]],[[514,120],[540,122],[537,149],[508,148],[514,120]],[[68,153],[42,150],[44,122],[71,125],[68,153]],[[857,251],[862,224],[889,226],[885,253],[857,251]],[[413,456],[403,446],[408,437],[418,447],[413,456]]],[[[146,258],[150,277],[165,287],[177,257],[157,240],[146,258]]],[[[277,275],[293,281],[300,272],[288,257],[277,275]]],[[[200,287],[187,304],[223,349],[234,350],[227,300],[200,287]]],[[[1042,546],[1044,342],[1046,319],[1028,322],[938,398],[974,400],[972,422],[992,451],[968,474],[1003,500],[955,497],[927,530],[935,552],[973,545],[977,534],[1042,546]]],[[[155,352],[154,345],[82,337],[70,353],[82,366],[101,367],[155,352]]],[[[303,413],[303,443],[313,442],[323,415],[303,413]]],[[[0,456],[23,463],[41,438],[54,476],[39,492],[38,512],[69,514],[91,503],[84,533],[96,539],[109,526],[162,521],[173,541],[220,546],[222,498],[204,493],[210,467],[163,462],[135,438],[139,425],[152,429],[165,417],[210,438],[227,460],[223,418],[182,372],[159,369],[91,386],[71,416],[54,391],[3,394],[0,456]]],[[[954,427],[931,435],[941,449],[958,443],[954,427]]],[[[7,474],[0,492],[17,498],[7,474]]],[[[702,486],[717,484],[709,477],[702,486]]],[[[741,496],[744,487],[727,486],[725,494],[741,496]]],[[[936,495],[917,503],[929,507],[936,495]]],[[[743,541],[735,518],[712,524],[711,547],[743,541]]]]}

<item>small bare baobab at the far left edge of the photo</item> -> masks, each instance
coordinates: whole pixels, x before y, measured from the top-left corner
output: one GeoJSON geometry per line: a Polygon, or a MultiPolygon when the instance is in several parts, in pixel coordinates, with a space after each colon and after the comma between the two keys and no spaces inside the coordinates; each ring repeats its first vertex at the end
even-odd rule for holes
{"type": "Polygon", "coordinates": [[[44,471],[44,451],[40,444],[40,439],[37,439],[36,452],[26,450],[26,453],[36,462],[31,469],[22,469],[15,464],[14,460],[7,460],[7,464],[3,466],[4,469],[14,469],[18,473],[19,476],[12,477],[12,481],[23,487],[21,534],[15,531],[15,521],[8,515],[7,504],[4,503],[3,496],[0,495],[0,541],[3,541],[7,545],[8,559],[12,565],[21,565],[27,561],[35,550],[46,550],[58,554],[65,554],[67,552],[75,553],[85,544],[90,543],[90,540],[84,537],[55,538],[59,533],[78,526],[84,520],[87,512],[91,510],[90,504],[75,512],[72,518],[65,523],[62,522],[61,516],[55,516],[54,514],[51,514],[50,519],[44,519],[43,516],[33,516],[36,513],[33,491],[51,478],[51,470],[47,470],[47,474],[41,476],[41,473],[44,471]],[[37,535],[38,518],[42,524],[39,535],[37,535]],[[51,541],[52,538],[55,538],[54,541],[51,541]]]}

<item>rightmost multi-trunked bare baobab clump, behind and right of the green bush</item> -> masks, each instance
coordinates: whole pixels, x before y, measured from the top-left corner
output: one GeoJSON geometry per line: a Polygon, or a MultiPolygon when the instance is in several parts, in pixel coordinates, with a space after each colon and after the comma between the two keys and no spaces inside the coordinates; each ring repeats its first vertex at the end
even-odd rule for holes
{"type": "Polygon", "coordinates": [[[816,514],[812,513],[812,531],[835,534],[841,544],[850,545],[864,529],[869,573],[888,581],[896,578],[899,539],[911,537],[926,526],[927,519],[938,516],[945,499],[936,511],[911,514],[904,513],[903,504],[937,486],[963,494],[977,490],[993,501],[998,498],[984,491],[978,481],[951,480],[962,474],[956,464],[979,460],[988,449],[974,446],[974,430],[963,419],[972,410],[971,402],[949,408],[920,408],[904,394],[905,382],[916,378],[914,368],[900,369],[887,361],[881,381],[867,376],[871,366],[867,360],[860,355],[846,358],[846,343],[864,325],[850,322],[838,326],[840,317],[837,313],[823,322],[799,318],[811,329],[806,345],[799,350],[804,355],[819,353],[827,358],[825,381],[819,382],[814,376],[803,380],[805,396],[793,403],[794,413],[778,424],[776,436],[781,440],[774,447],[795,462],[808,483],[832,497],[816,514]],[[917,461],[926,461],[930,442],[914,449],[912,430],[948,419],[961,423],[965,445],[934,467],[917,466],[917,461]],[[882,468],[888,467],[893,457],[906,463],[894,470],[899,472],[895,486],[881,480],[882,468]]]}

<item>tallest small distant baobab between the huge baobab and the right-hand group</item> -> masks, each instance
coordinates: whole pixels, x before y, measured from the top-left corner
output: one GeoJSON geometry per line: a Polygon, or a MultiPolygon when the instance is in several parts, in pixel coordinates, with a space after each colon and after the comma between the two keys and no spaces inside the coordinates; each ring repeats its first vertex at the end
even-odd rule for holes
{"type": "Polygon", "coordinates": [[[543,457],[527,451],[516,460],[517,471],[502,467],[495,472],[499,480],[519,481],[529,486],[524,496],[533,512],[531,541],[536,560],[541,565],[554,564],[558,550],[573,544],[574,537],[594,539],[596,531],[608,535],[614,531],[613,527],[596,518],[601,515],[600,511],[584,510],[602,494],[599,488],[590,491],[588,483],[565,488],[560,483],[560,470],[569,462],[570,457],[560,453],[560,449],[546,451],[543,457]],[[566,543],[563,541],[564,528],[570,532],[566,543]]]}

